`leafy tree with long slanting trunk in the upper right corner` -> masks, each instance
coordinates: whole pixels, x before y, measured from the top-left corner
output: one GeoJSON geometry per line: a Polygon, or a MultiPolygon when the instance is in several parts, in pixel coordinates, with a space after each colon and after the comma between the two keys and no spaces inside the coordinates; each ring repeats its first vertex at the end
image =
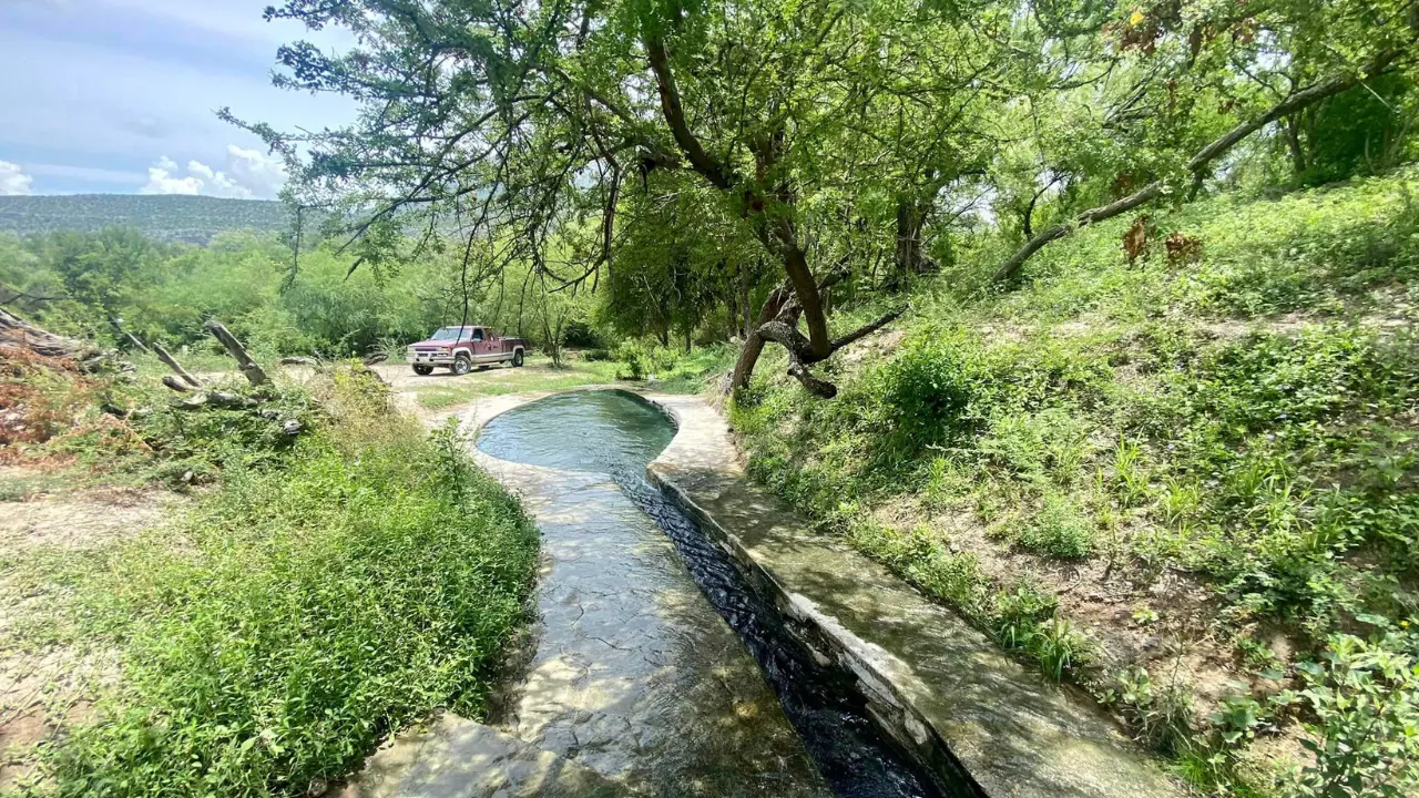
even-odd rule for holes
{"type": "Polygon", "coordinates": [[[1130,111],[1117,116],[1130,138],[1148,145],[1135,153],[1139,169],[1120,183],[1132,190],[1036,233],[1000,264],[998,280],[1019,274],[1026,260],[1076,226],[1128,213],[1188,182],[1196,193],[1218,163],[1259,131],[1385,75],[1409,75],[1419,64],[1419,18],[1410,0],[1240,7],[1166,0],[1118,11],[1127,16],[1103,30],[1118,37],[1121,51],[1138,53],[1145,68],[1122,106],[1130,111]],[[1220,105],[1209,112],[1199,98],[1220,105]],[[1199,136],[1203,132],[1209,135],[1199,136]]]}

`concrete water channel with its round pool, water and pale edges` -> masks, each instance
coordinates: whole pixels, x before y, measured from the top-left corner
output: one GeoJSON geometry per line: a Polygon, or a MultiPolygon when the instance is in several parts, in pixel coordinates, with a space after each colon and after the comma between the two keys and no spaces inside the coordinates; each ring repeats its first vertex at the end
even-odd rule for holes
{"type": "Polygon", "coordinates": [[[949,612],[786,527],[698,399],[499,396],[461,420],[542,531],[538,619],[490,726],[446,716],[348,795],[1182,794],[949,612]]]}

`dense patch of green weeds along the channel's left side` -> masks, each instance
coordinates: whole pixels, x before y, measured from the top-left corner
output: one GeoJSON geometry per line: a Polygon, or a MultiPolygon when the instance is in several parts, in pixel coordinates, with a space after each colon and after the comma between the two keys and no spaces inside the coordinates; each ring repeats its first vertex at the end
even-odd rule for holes
{"type": "Polygon", "coordinates": [[[280,461],[227,459],[190,514],[92,557],[6,564],[45,595],[14,645],[111,652],[35,795],[304,795],[399,728],[480,717],[536,531],[464,454],[338,372],[280,461]]]}

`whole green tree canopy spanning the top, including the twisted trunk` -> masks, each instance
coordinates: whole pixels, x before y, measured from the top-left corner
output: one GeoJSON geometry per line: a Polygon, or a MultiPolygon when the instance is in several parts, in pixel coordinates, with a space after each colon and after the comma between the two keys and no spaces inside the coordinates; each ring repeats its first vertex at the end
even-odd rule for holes
{"type": "Polygon", "coordinates": [[[237,122],[285,153],[288,200],[332,212],[356,264],[454,239],[477,285],[521,264],[524,294],[607,291],[604,318],[663,341],[715,318],[745,337],[734,385],[772,341],[823,396],[812,366],[901,310],[834,331],[833,295],[890,297],[956,231],[1013,248],[996,273],[1013,280],[1074,227],[1185,202],[1259,152],[1297,180],[1403,158],[1419,30],[1413,0],[288,0],[267,17],[355,34],[282,47],[277,77],[358,99],[355,125],[237,122]],[[1382,131],[1323,143],[1357,104],[1382,131]]]}

